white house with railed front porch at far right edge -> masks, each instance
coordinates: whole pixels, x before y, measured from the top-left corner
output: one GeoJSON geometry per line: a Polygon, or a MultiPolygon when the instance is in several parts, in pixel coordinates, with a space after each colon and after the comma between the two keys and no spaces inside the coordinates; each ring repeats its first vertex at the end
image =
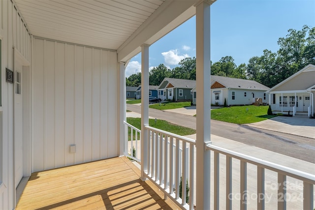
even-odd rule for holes
{"type": "Polygon", "coordinates": [[[314,115],[315,65],[309,64],[267,91],[275,113],[314,115]]]}

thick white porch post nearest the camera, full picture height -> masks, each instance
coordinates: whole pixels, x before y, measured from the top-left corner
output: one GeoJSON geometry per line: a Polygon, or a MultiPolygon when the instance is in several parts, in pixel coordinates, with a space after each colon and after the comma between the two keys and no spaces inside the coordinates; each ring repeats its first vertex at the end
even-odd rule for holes
{"type": "Polygon", "coordinates": [[[210,5],[201,0],[196,7],[196,209],[210,209],[210,5]]]}

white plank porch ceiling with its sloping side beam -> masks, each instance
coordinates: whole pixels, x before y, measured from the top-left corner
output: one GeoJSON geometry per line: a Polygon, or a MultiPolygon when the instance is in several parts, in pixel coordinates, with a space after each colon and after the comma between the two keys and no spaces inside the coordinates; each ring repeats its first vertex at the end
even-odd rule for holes
{"type": "Polygon", "coordinates": [[[32,35],[118,50],[121,60],[188,20],[196,1],[13,0],[32,35]],[[135,38],[140,33],[141,42],[135,38]]]}

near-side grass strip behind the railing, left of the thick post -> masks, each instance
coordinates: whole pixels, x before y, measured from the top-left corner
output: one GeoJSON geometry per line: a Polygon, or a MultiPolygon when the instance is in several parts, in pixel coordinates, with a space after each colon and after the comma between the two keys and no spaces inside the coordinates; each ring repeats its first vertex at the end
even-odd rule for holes
{"type": "MultiPolygon", "coordinates": [[[[127,122],[134,127],[138,128],[139,130],[141,129],[141,118],[127,118],[127,122]]],[[[183,127],[180,125],[175,125],[172,124],[168,121],[165,120],[157,120],[157,123],[155,123],[155,119],[149,119],[149,125],[151,127],[155,127],[161,130],[165,130],[171,133],[175,133],[177,135],[181,136],[186,136],[190,134],[195,134],[196,130],[188,128],[188,127],[183,127]]],[[[130,130],[128,131],[128,139],[130,140],[130,130]]],[[[133,135],[135,135],[135,132],[133,132],[133,135]]],[[[140,138],[140,135],[138,136],[138,139],[140,138]]]]}

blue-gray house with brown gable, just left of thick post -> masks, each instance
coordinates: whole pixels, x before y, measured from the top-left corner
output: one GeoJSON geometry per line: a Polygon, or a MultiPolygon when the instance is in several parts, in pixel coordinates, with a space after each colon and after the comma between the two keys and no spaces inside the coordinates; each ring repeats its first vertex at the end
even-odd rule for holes
{"type": "Polygon", "coordinates": [[[196,86],[195,80],[164,78],[158,87],[158,98],[162,100],[191,101],[191,90],[196,86]]]}

